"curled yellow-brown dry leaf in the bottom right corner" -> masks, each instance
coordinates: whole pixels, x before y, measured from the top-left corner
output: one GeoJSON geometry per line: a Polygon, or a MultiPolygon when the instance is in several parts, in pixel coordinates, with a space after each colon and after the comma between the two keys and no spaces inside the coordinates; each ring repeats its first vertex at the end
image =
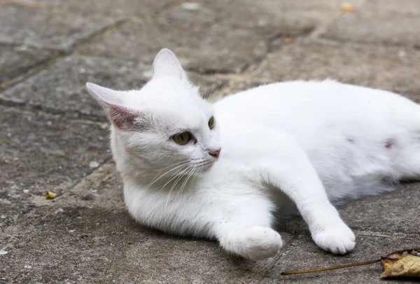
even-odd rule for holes
{"type": "Polygon", "coordinates": [[[390,277],[419,277],[420,278],[420,250],[395,252],[381,260],[384,272],[381,278],[390,277]]]}

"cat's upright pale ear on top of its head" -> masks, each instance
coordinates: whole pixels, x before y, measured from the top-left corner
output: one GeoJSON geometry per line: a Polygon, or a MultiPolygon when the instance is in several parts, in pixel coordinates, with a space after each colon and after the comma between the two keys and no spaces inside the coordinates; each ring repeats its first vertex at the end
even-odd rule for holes
{"type": "Polygon", "coordinates": [[[176,76],[181,80],[186,78],[186,72],[183,71],[178,58],[167,48],[160,50],[153,61],[153,77],[164,76],[176,76]]]}

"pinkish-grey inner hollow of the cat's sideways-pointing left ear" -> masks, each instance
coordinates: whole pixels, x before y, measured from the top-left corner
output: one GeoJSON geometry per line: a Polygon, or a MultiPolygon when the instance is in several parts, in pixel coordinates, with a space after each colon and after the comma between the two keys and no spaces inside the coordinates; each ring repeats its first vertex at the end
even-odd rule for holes
{"type": "Polygon", "coordinates": [[[108,107],[108,118],[116,127],[123,130],[136,130],[137,128],[142,128],[141,125],[134,125],[134,120],[141,115],[139,111],[134,111],[130,108],[118,105],[109,105],[108,107]]]}

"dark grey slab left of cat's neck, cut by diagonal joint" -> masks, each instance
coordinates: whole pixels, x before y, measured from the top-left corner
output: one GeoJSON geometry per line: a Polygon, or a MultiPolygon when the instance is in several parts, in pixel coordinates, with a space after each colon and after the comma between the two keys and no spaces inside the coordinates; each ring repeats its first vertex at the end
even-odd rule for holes
{"type": "Polygon", "coordinates": [[[111,157],[108,129],[102,125],[16,108],[0,110],[2,227],[45,200],[46,191],[64,194],[111,157]]]}

